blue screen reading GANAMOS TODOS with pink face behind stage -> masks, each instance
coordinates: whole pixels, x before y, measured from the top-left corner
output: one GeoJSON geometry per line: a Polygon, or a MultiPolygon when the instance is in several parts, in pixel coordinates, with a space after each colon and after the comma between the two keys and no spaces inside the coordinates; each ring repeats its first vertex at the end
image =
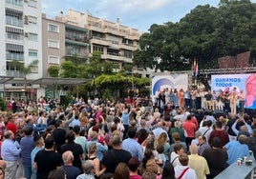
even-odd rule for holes
{"type": "Polygon", "coordinates": [[[211,90],[232,92],[234,87],[244,90],[245,108],[256,109],[256,73],[211,75],[211,90]]]}

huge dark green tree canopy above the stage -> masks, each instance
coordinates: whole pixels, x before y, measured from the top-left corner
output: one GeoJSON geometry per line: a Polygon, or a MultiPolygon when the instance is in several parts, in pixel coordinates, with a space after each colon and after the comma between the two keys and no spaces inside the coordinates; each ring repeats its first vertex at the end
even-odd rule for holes
{"type": "Polygon", "coordinates": [[[255,53],[255,25],[256,4],[249,0],[198,6],[178,23],[153,24],[140,36],[134,63],[144,69],[190,70],[197,59],[199,68],[216,68],[219,57],[255,53]]]}

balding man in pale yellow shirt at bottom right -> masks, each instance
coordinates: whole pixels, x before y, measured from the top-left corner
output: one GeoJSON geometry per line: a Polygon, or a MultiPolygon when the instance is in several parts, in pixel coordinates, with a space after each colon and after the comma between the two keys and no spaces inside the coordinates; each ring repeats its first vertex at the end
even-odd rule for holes
{"type": "Polygon", "coordinates": [[[206,174],[210,173],[207,161],[198,154],[197,145],[192,144],[189,149],[191,154],[188,156],[188,166],[196,171],[198,179],[206,179],[206,174]]]}

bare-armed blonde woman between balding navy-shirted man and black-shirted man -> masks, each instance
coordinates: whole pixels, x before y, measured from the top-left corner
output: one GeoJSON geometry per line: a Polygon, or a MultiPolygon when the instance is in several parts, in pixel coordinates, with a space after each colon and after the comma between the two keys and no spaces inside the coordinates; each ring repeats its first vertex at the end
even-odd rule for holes
{"type": "Polygon", "coordinates": [[[105,172],[106,168],[100,170],[100,162],[99,159],[96,158],[96,143],[89,146],[88,158],[93,161],[96,178],[99,178],[99,176],[105,172]]]}

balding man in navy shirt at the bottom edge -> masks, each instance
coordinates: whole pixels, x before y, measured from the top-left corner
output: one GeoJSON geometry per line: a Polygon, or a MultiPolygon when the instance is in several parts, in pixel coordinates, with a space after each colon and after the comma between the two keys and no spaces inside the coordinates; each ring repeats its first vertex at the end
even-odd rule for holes
{"type": "Polygon", "coordinates": [[[73,166],[74,155],[71,150],[65,151],[62,154],[62,159],[64,162],[63,169],[66,171],[69,179],[75,179],[79,174],[81,174],[81,170],[73,166]]]}

